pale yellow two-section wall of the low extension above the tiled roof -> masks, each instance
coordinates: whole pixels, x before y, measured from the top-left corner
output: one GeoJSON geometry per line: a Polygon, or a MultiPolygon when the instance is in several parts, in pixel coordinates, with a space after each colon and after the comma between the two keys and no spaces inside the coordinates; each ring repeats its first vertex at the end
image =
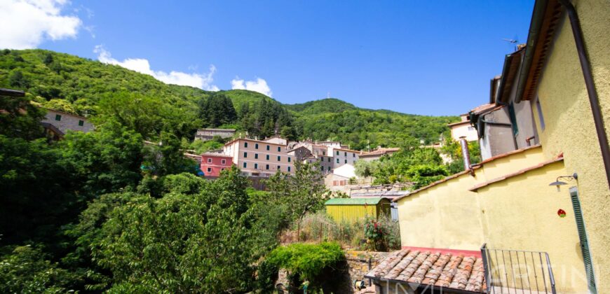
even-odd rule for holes
{"type": "Polygon", "coordinates": [[[530,148],[398,201],[402,246],[479,250],[543,251],[550,255],[561,293],[587,286],[568,188],[548,186],[566,174],[555,162],[470,192],[478,183],[545,162],[542,148],[530,148]],[[564,209],[568,217],[560,218],[564,209]],[[574,280],[574,281],[573,281],[574,280]]]}

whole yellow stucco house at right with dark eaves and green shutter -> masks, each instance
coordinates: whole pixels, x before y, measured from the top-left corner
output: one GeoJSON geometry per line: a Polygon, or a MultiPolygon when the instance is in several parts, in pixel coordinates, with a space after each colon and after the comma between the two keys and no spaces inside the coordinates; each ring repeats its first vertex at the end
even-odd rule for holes
{"type": "MultiPolygon", "coordinates": [[[[468,251],[460,253],[459,267],[469,255],[477,262],[474,251],[480,251],[485,285],[480,289],[476,277],[478,291],[535,284],[548,293],[610,292],[610,213],[604,209],[610,206],[610,125],[604,123],[610,108],[600,107],[610,103],[610,85],[601,82],[610,68],[610,8],[604,1],[575,4],[536,1],[527,45],[505,58],[502,76],[492,83],[495,106],[485,111],[508,114],[508,132],[494,136],[513,150],[477,165],[465,162],[464,172],[395,199],[405,252],[397,253],[400,267],[393,263],[369,274],[379,287],[451,285],[430,267],[417,269],[424,275],[415,279],[393,274],[422,252],[422,261],[438,266],[446,249],[468,251]],[[504,260],[496,258],[501,254],[504,260]],[[546,269],[547,279],[530,269],[546,269]]],[[[492,118],[473,113],[479,117],[470,120],[484,137],[489,129],[480,125],[491,125],[492,118]]],[[[471,277],[445,290],[468,290],[471,277]]]]}

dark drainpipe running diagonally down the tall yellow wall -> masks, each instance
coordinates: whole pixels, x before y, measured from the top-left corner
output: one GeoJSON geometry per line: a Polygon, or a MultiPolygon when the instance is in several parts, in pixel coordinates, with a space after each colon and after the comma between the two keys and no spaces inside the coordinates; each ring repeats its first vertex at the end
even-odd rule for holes
{"type": "Polygon", "coordinates": [[[608,186],[610,187],[610,147],[608,146],[606,130],[604,130],[604,118],[602,116],[602,111],[599,109],[599,98],[597,97],[597,91],[595,90],[595,82],[593,81],[591,65],[587,56],[587,49],[585,48],[585,40],[583,38],[581,22],[578,20],[576,9],[574,9],[574,6],[569,0],[559,0],[559,2],[562,4],[562,6],[564,6],[564,8],[566,8],[568,17],[570,18],[572,34],[574,34],[576,50],[578,51],[578,59],[581,61],[581,69],[583,69],[585,85],[587,86],[587,93],[589,95],[589,102],[591,104],[591,111],[593,113],[593,121],[595,122],[595,131],[597,131],[599,147],[602,150],[602,159],[604,160],[604,167],[606,168],[606,180],[608,181],[608,186]]]}

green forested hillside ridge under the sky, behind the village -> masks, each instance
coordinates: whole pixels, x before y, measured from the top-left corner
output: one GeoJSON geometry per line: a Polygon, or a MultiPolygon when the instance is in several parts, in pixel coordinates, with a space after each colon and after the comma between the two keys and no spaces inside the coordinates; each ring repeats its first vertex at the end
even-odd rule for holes
{"type": "Polygon", "coordinates": [[[284,105],[247,90],[208,92],[166,85],[151,76],[48,50],[0,51],[0,87],[25,90],[51,109],[109,117],[158,139],[163,130],[192,139],[199,127],[235,127],[251,136],[339,140],[351,148],[438,141],[456,117],[414,116],[360,109],[339,99],[284,105]]]}

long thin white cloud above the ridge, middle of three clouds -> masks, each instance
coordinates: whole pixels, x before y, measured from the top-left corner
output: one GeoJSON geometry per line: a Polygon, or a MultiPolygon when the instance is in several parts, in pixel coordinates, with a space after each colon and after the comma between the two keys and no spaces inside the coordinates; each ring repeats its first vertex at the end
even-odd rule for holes
{"type": "Polygon", "coordinates": [[[216,72],[216,66],[210,65],[210,72],[208,73],[184,73],[182,71],[153,71],[150,67],[148,59],[143,58],[128,58],[122,62],[114,59],[110,52],[104,49],[102,45],[95,46],[93,52],[97,53],[97,59],[105,64],[115,64],[123,66],[126,69],[137,71],[139,73],[145,73],[153,76],[157,80],[161,80],[166,84],[175,85],[188,85],[191,87],[198,87],[208,91],[220,90],[217,86],[212,85],[214,78],[212,77],[216,72]]]}

